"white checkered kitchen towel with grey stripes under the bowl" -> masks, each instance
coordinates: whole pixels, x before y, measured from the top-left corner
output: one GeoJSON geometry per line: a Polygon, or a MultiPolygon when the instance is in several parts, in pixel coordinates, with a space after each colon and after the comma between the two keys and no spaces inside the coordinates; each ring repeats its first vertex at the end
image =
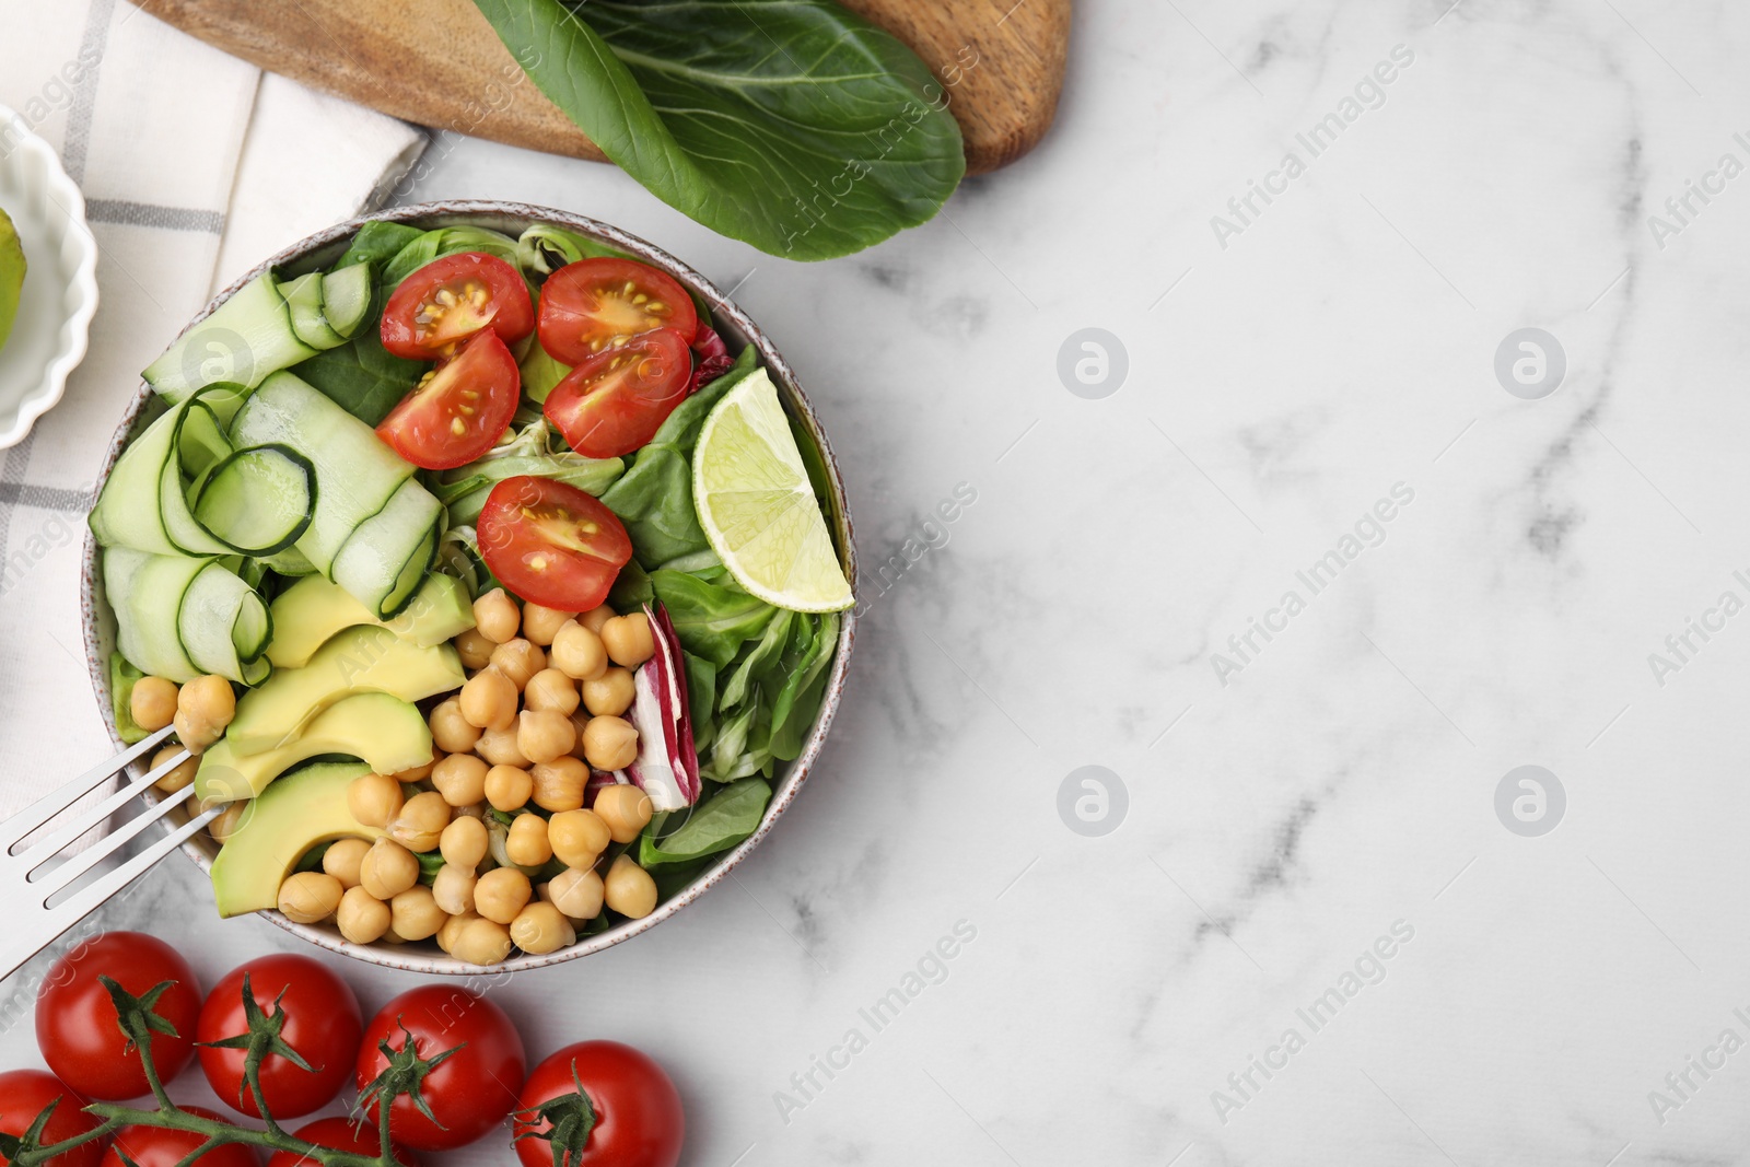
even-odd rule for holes
{"type": "Polygon", "coordinates": [[[79,560],[93,476],[144,369],[262,257],[382,199],[425,145],[121,0],[7,5],[0,103],[86,194],[102,304],[66,397],[0,455],[0,817],[112,751],[79,560]]]}

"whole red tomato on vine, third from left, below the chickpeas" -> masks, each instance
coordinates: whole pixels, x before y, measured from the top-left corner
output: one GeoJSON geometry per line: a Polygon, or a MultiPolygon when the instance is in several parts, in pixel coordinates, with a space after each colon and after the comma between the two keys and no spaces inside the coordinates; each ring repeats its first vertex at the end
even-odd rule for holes
{"type": "MultiPolygon", "coordinates": [[[[485,997],[446,985],[425,985],[385,1004],[359,1045],[357,1085],[362,1090],[388,1067],[382,1052],[401,1052],[413,1036],[422,1059],[457,1050],[438,1064],[420,1087],[438,1122],[420,1115],[413,1099],[401,1095],[388,1109],[396,1143],[415,1151],[446,1151],[466,1146],[504,1122],[516,1106],[528,1062],[523,1039],[504,1010],[485,997]],[[402,1032],[406,1027],[406,1034],[402,1032]]],[[[366,1109],[376,1122],[376,1108],[366,1109]]]]}

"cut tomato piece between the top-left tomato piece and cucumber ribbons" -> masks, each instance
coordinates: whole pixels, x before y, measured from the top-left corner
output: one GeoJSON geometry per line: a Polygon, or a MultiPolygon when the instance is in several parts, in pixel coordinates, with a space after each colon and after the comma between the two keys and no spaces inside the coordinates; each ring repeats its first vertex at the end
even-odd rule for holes
{"type": "Polygon", "coordinates": [[[467,465],[504,437],[522,392],[516,357],[497,332],[481,332],[427,373],[376,436],[427,471],[467,465]]]}

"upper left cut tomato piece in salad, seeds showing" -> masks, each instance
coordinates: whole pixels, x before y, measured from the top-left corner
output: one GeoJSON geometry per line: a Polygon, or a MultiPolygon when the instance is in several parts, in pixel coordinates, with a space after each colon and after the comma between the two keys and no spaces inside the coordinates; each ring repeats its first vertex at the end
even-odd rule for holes
{"type": "Polygon", "coordinates": [[[383,348],[397,357],[434,360],[488,327],[506,345],[534,331],[528,285],[497,255],[458,252],[401,282],[383,308],[383,348]]]}

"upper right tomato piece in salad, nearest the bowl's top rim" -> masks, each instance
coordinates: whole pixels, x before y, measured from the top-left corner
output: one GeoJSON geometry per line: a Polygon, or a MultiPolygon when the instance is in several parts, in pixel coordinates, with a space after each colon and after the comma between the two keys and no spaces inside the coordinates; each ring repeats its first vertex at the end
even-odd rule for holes
{"type": "Polygon", "coordinates": [[[541,346],[555,360],[583,364],[654,329],[674,329],[691,345],[698,311],[684,287],[649,264],[579,259],[541,285],[541,346]]]}

